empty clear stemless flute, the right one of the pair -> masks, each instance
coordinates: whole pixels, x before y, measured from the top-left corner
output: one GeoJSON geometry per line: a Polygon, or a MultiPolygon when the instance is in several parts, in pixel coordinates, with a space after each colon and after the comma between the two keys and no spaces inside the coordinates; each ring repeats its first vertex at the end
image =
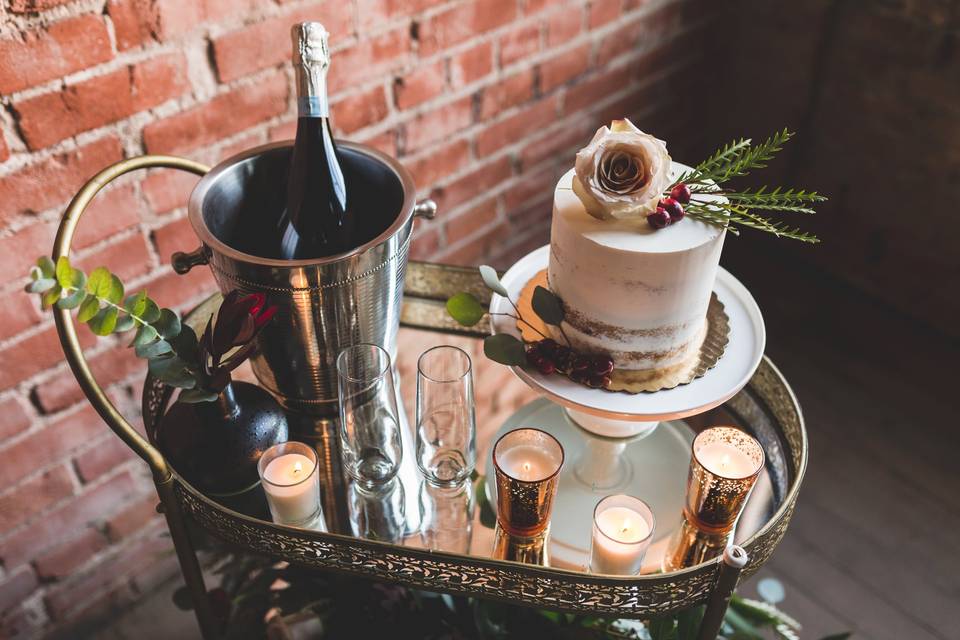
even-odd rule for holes
{"type": "Polygon", "coordinates": [[[441,345],[417,360],[417,466],[428,481],[452,486],[477,463],[470,356],[441,345]]]}

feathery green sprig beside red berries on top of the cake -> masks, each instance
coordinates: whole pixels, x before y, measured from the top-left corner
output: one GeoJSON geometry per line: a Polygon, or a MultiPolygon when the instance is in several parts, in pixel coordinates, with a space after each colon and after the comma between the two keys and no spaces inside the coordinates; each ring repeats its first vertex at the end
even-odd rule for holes
{"type": "Polygon", "coordinates": [[[733,234],[739,233],[738,227],[749,227],[782,238],[820,242],[813,234],[786,222],[771,220],[755,211],[812,214],[815,213],[812,205],[825,201],[826,197],[803,189],[761,187],[738,191],[724,186],[732,178],[765,168],[793,136],[792,132],[784,129],[757,145],[749,138],[734,140],[720,147],[693,169],[682,173],[664,195],[673,195],[675,189],[685,185],[689,201],[682,203],[683,213],[728,229],[733,234]]]}

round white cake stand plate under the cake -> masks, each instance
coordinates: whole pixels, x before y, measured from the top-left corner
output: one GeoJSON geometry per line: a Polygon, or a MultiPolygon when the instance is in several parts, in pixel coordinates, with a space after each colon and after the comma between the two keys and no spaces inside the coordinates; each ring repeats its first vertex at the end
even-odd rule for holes
{"type": "MultiPolygon", "coordinates": [[[[501,282],[512,300],[516,301],[523,287],[547,268],[549,256],[549,245],[540,247],[507,271],[501,282]]],[[[512,367],[513,371],[535,391],[564,407],[578,425],[592,433],[606,438],[648,435],[661,420],[685,418],[723,404],[747,384],[760,364],[766,331],[753,296],[722,267],[717,272],[714,292],[729,318],[729,340],[719,362],[687,384],[650,393],[611,393],[579,385],[565,376],[543,375],[531,368],[512,367]]],[[[494,294],[490,313],[513,313],[513,307],[506,298],[494,294]]],[[[516,322],[507,316],[491,315],[491,325],[493,333],[520,336],[516,322]]]]}

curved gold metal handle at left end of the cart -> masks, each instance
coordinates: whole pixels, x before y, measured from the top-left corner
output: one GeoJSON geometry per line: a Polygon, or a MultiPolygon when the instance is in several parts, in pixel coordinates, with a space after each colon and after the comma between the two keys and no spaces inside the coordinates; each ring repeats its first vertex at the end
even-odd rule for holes
{"type": "MultiPolygon", "coordinates": [[[[192,160],[177,158],[176,156],[139,156],[122,160],[113,164],[93,178],[91,178],[83,188],[73,197],[70,205],[60,220],[60,228],[57,230],[57,238],[53,245],[53,260],[60,256],[70,253],[70,243],[73,241],[73,234],[76,231],[77,223],[80,222],[80,216],[86,211],[87,207],[93,201],[93,198],[105,186],[119,178],[120,176],[136,171],[137,169],[149,168],[168,168],[189,171],[197,175],[203,175],[210,170],[206,165],[192,160]]],[[[73,323],[73,316],[69,309],[53,308],[54,319],[57,323],[57,333],[60,335],[60,344],[63,346],[63,352],[67,356],[67,362],[70,363],[70,369],[80,383],[87,400],[97,410],[104,422],[109,425],[113,431],[120,436],[128,447],[134,450],[137,455],[143,458],[150,469],[153,471],[154,478],[158,482],[166,482],[170,478],[170,467],[163,455],[151,445],[146,438],[141,436],[133,426],[117,411],[107,394],[97,384],[86,359],[83,357],[83,349],[80,347],[80,340],[77,337],[77,328],[73,323]]]]}

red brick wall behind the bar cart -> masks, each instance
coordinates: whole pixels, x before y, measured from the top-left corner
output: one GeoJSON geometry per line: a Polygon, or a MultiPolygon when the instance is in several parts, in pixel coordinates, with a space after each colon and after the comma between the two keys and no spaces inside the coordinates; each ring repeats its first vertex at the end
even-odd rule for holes
{"type": "MultiPolygon", "coordinates": [[[[598,123],[680,129],[702,20],[679,0],[2,0],[0,636],[121,606],[172,570],[144,465],[82,402],[22,274],[97,169],[141,153],[212,163],[291,137],[288,29],[303,19],[332,33],[340,134],[400,157],[440,205],[413,255],[501,264],[544,241],[552,186],[598,123]]],[[[122,181],[88,213],[76,257],[164,304],[196,301],[209,274],[168,264],[196,244],[194,181],[122,181]]],[[[143,367],[87,344],[135,419],[143,367]]]]}

